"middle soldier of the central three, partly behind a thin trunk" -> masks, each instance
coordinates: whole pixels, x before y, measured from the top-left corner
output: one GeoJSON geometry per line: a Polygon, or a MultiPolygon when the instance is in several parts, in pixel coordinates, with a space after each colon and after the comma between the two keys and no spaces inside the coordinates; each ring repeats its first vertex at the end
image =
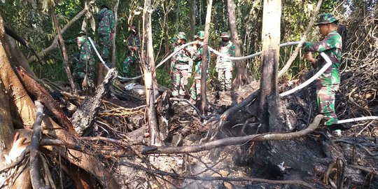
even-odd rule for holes
{"type": "MultiPolygon", "coordinates": [[[[194,73],[194,81],[192,87],[190,87],[190,102],[192,104],[195,104],[195,102],[198,100],[198,97],[201,93],[201,75],[202,75],[202,54],[203,54],[203,48],[202,45],[204,43],[204,31],[198,31],[198,34],[195,35],[195,43],[193,45],[191,52],[193,64],[195,67],[195,73],[194,73]]],[[[209,55],[209,54],[208,54],[209,55]]]]}

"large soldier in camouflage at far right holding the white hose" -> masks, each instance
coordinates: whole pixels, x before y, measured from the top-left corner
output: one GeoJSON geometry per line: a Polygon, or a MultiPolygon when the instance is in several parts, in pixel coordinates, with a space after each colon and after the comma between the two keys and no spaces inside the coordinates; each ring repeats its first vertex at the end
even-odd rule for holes
{"type": "Polygon", "coordinates": [[[316,102],[318,111],[325,118],[325,125],[337,123],[335,113],[335,93],[339,88],[340,76],[339,66],[342,56],[342,37],[337,33],[338,20],[330,13],[322,14],[319,17],[316,26],[319,27],[319,33],[323,40],[318,42],[307,42],[303,45],[304,59],[307,59],[316,69],[321,69],[326,64],[325,59],[318,55],[317,59],[312,57],[311,52],[324,52],[330,57],[332,66],[330,66],[316,80],[316,102]]]}

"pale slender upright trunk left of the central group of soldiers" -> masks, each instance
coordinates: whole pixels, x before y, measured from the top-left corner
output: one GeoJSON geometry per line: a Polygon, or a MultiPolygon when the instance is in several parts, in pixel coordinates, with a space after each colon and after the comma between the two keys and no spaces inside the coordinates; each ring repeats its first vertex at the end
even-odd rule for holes
{"type": "MultiPolygon", "coordinates": [[[[149,128],[151,145],[160,146],[162,142],[159,138],[158,118],[156,116],[155,107],[155,95],[156,90],[156,76],[155,71],[155,59],[153,57],[153,38],[152,38],[152,26],[151,26],[151,0],[144,1],[144,38],[143,43],[147,45],[147,56],[144,59],[144,51],[142,50],[142,62],[144,71],[144,84],[146,87],[146,111],[147,111],[147,124],[149,128]]],[[[142,48],[144,49],[144,48],[142,48]]]]}

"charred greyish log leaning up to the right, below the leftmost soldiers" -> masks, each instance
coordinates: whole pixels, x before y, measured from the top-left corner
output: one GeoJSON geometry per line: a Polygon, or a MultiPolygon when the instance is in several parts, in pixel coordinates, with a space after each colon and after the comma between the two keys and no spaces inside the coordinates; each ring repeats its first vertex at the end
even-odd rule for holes
{"type": "Polygon", "coordinates": [[[87,97],[78,110],[73,113],[71,121],[76,132],[80,136],[83,136],[83,134],[85,134],[85,130],[92,125],[94,118],[97,116],[99,111],[102,98],[109,90],[112,80],[116,78],[116,76],[117,71],[115,69],[110,69],[106,74],[102,85],[99,85],[96,92],[94,92],[94,97],[87,97]]]}

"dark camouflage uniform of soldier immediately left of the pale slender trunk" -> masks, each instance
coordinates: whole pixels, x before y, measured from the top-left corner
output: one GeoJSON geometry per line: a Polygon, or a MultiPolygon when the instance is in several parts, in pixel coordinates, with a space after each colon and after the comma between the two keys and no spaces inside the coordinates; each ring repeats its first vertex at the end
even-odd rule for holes
{"type": "MultiPolygon", "coordinates": [[[[131,35],[129,38],[127,38],[126,41],[127,45],[129,47],[137,47],[138,49],[141,49],[141,38],[139,35],[131,35]]],[[[125,73],[125,76],[130,76],[130,66],[136,64],[137,62],[140,62],[139,53],[137,51],[134,51],[130,48],[131,55],[126,57],[126,59],[123,61],[123,73],[125,73]]],[[[139,65],[136,65],[136,73],[140,73],[139,65]]]]}

